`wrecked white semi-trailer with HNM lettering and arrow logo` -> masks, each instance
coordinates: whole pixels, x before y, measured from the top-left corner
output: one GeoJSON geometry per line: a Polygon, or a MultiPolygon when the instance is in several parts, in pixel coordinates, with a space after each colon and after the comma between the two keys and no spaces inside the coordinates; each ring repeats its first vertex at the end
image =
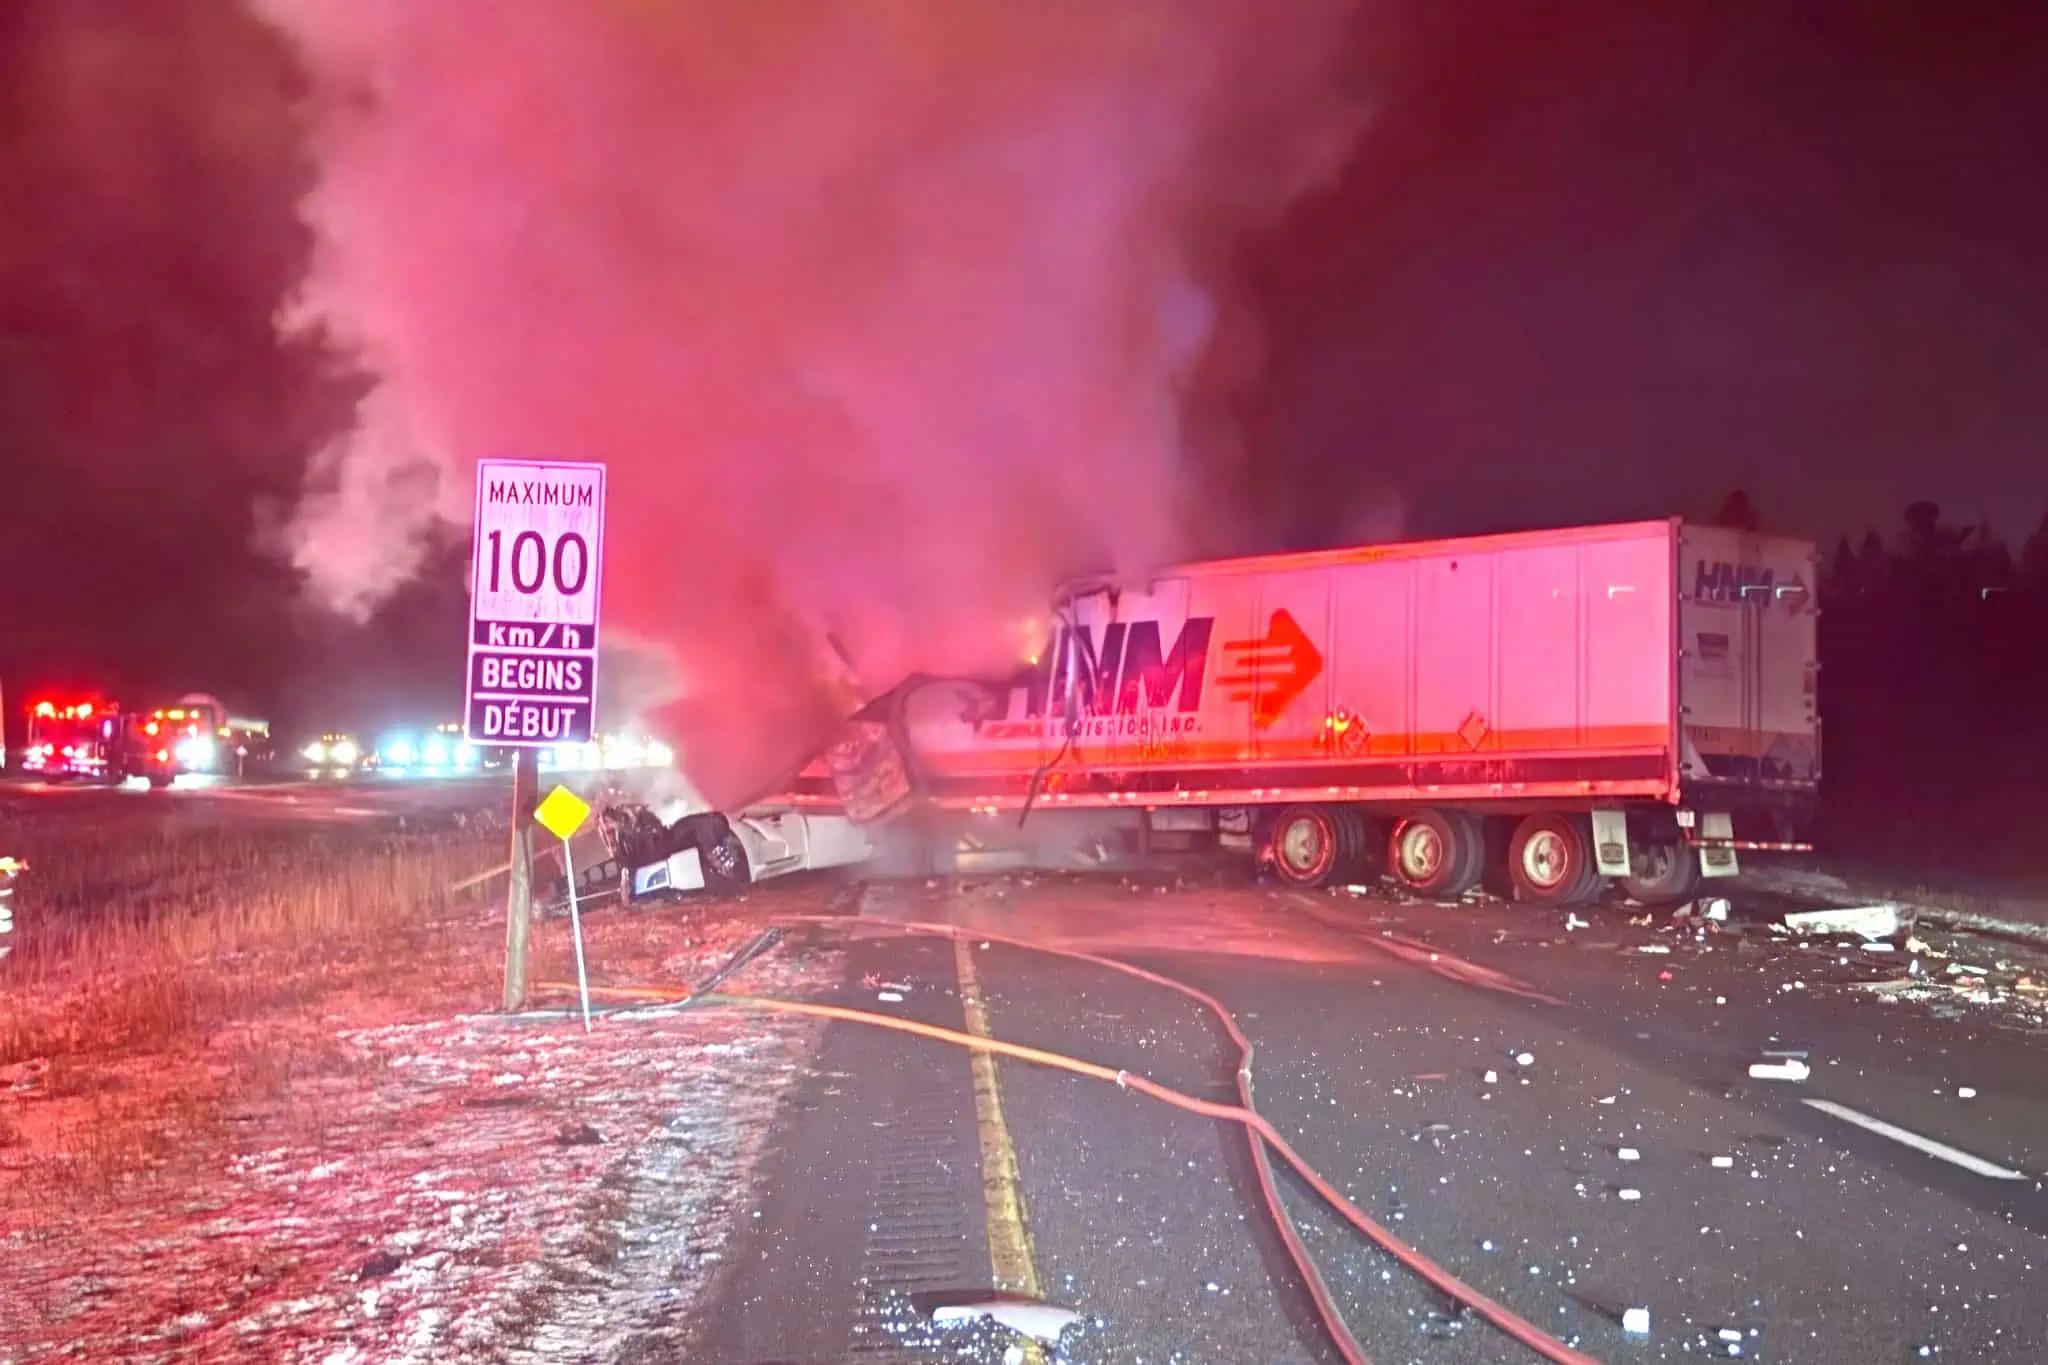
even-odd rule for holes
{"type": "Polygon", "coordinates": [[[1092,810],[1274,876],[1642,902],[1798,839],[1815,546],[1681,520],[1081,579],[1014,675],[870,702],[786,800],[1092,810]]]}

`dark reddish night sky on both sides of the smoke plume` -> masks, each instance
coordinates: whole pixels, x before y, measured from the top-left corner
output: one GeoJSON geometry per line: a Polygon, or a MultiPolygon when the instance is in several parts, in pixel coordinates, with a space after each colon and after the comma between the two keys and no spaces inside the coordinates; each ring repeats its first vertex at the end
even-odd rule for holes
{"type": "MultiPolygon", "coordinates": [[[[1276,12],[1284,6],[1276,6],[1276,12]]],[[[2048,512],[2048,8],[1368,6],[1370,123],[1249,244],[1255,551],[1669,512],[2048,512]]],[[[276,546],[360,379],[305,270],[289,51],[227,4],[0,12],[0,681],[281,724],[459,702],[463,546],[367,626],[276,546]],[[109,27],[123,14],[123,27],[109,27]]]]}

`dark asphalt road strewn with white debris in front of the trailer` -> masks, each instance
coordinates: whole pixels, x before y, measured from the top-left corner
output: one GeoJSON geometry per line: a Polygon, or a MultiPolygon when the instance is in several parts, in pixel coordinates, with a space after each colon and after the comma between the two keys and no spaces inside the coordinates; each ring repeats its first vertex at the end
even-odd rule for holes
{"type": "MultiPolygon", "coordinates": [[[[1731,900],[1731,925],[1673,925],[1624,905],[1567,919],[1380,892],[1024,874],[874,884],[856,921],[821,935],[858,943],[840,1003],[948,1027],[952,954],[872,937],[877,921],[1106,954],[1214,993],[1255,1044],[1260,1109],[1311,1164],[1587,1355],[2048,1359],[2048,1324],[2025,1295],[2048,1263],[2048,1036],[2025,1011],[1956,1003],[1946,988],[1870,988],[1942,980],[1948,962],[2011,950],[1792,941],[1743,923],[1755,907],[1776,911],[1765,896],[1747,907],[1737,888],[1731,900]],[[1915,958],[1919,978],[1907,976],[1915,958]],[[1810,1074],[1749,1074],[1788,1060],[1810,1074]],[[1624,1332],[1630,1308],[1649,1310],[1647,1334],[1624,1332]]],[[[971,952],[991,1036],[1235,1097],[1233,1048],[1184,997],[993,941],[971,952]]],[[[2023,970],[2005,962],[2003,974],[2023,970]]],[[[852,1023],[827,1040],[836,1074],[793,1091],[780,1150],[827,1130],[844,1146],[852,1130],[836,1126],[877,1087],[915,1083],[926,1103],[965,1103],[950,1099],[969,1091],[954,1046],[852,1023]]],[[[1243,1130],[1018,1060],[997,1074],[1040,1291],[1085,1316],[1059,1359],[1335,1359],[1257,1197],[1243,1130]]],[[[864,1197],[850,1173],[891,1150],[883,1128],[870,1132],[864,1152],[813,1162],[811,1185],[784,1162],[764,1197],[819,1209],[864,1197]]],[[[1282,1185],[1374,1361],[1530,1359],[1305,1185],[1282,1185]]],[[[836,1222],[811,1236],[848,1236],[836,1222]]],[[[858,1248],[827,1261],[842,1269],[770,1297],[858,1304],[858,1285],[827,1283],[858,1248]]],[[[958,1289],[987,1283],[983,1248],[958,1289]]],[[[758,1304],[760,1285],[741,1257],[698,1316],[727,1322],[750,1295],[758,1304]]],[[[1016,1340],[891,1347],[1004,1359],[1016,1340]]],[[[715,1359],[850,1355],[829,1330],[770,1330],[745,1347],[715,1359]]]]}

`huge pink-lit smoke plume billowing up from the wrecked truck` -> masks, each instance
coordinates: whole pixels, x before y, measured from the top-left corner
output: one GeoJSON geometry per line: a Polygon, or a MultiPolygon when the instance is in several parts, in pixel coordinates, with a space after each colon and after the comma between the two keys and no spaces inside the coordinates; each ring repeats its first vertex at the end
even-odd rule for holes
{"type": "Polygon", "coordinates": [[[825,632],[1008,669],[1059,575],[1182,553],[1233,250],[1360,127],[1343,0],[262,8],[315,90],[291,321],[377,381],[301,565],[360,612],[477,456],[606,460],[608,624],[715,802],[840,718],[825,632]]]}

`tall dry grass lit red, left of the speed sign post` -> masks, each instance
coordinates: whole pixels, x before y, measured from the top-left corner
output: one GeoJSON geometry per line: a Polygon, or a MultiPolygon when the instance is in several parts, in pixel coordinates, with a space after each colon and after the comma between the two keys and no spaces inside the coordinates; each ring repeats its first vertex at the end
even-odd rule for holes
{"type": "MultiPolygon", "coordinates": [[[[373,1081],[334,1023],[494,1001],[502,931],[451,882],[502,835],[41,831],[0,962],[20,1191],[109,1195],[307,1081],[373,1081]]],[[[319,1124],[319,1107],[305,1109],[319,1124]]],[[[6,1173],[0,1173],[6,1175],[6,1173]]]]}

